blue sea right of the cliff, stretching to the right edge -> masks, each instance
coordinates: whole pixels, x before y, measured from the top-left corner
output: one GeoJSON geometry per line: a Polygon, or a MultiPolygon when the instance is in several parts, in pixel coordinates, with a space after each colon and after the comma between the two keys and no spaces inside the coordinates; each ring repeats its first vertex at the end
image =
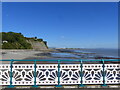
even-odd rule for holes
{"type": "Polygon", "coordinates": [[[75,57],[75,58],[96,58],[96,57],[108,57],[108,58],[120,58],[118,49],[59,49],[59,53],[53,52],[53,57],[75,57]]]}

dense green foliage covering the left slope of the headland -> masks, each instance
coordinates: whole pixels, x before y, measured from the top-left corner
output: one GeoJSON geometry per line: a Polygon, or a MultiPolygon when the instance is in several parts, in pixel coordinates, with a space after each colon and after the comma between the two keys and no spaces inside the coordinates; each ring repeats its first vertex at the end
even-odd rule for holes
{"type": "Polygon", "coordinates": [[[21,33],[2,32],[2,41],[8,41],[8,43],[3,43],[3,49],[32,49],[31,44],[21,33]]]}

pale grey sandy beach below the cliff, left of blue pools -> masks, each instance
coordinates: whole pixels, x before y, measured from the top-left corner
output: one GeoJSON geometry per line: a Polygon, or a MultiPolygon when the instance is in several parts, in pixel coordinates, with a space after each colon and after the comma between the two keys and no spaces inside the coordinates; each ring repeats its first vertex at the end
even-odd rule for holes
{"type": "MultiPolygon", "coordinates": [[[[54,57],[51,55],[51,52],[54,50],[0,50],[2,60],[40,60],[40,59],[60,59],[61,57],[54,57]]],[[[64,57],[63,57],[64,58],[64,57]]],[[[72,57],[68,57],[72,58],[72,57]]],[[[73,57],[74,58],[74,57],[73,57]]],[[[9,61],[3,61],[1,63],[10,63],[9,61]]],[[[32,61],[14,61],[16,64],[32,64],[32,61]]],[[[37,62],[37,63],[57,63],[57,62],[37,62]]]]}

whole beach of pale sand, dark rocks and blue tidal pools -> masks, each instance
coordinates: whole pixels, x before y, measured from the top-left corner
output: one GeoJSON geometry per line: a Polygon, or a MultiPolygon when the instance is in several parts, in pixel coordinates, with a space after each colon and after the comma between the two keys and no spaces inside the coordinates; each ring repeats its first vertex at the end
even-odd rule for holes
{"type": "MultiPolygon", "coordinates": [[[[98,52],[98,51],[97,51],[98,52]]],[[[48,50],[32,50],[32,49],[1,49],[0,50],[0,59],[2,60],[79,60],[79,59],[119,59],[117,57],[110,56],[101,56],[101,54],[90,52],[90,50],[81,50],[81,49],[48,49],[48,50]]],[[[1,63],[10,63],[7,61],[1,63]]],[[[30,64],[33,62],[14,62],[17,64],[30,64]]],[[[37,62],[37,63],[51,63],[51,62],[37,62]]],[[[57,63],[57,62],[52,62],[57,63]]],[[[65,62],[71,63],[71,62],[65,62]]],[[[72,62],[76,63],[76,62],[72,62]]]]}

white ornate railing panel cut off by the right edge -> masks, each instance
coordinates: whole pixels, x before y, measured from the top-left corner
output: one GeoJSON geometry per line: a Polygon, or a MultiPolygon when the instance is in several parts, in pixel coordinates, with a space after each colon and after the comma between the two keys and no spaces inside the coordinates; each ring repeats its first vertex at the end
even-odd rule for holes
{"type": "Polygon", "coordinates": [[[120,84],[120,64],[105,64],[105,83],[120,84]]]}

